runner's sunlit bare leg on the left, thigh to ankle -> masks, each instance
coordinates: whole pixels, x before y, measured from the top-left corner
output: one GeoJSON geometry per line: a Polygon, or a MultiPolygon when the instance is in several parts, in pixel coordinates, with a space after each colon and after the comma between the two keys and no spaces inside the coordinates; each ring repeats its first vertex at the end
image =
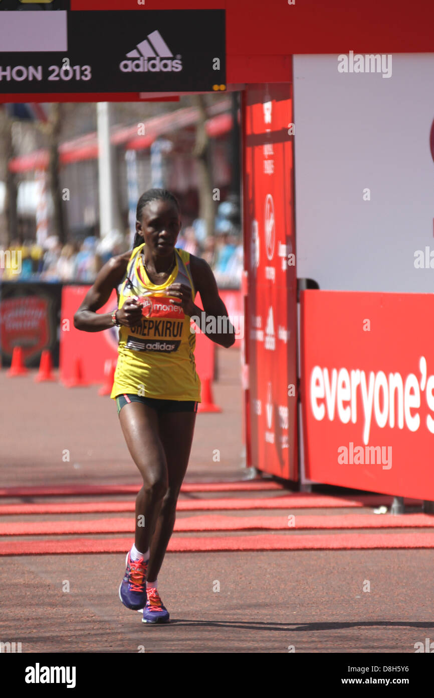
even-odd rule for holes
{"type": "Polygon", "coordinates": [[[123,406],[119,420],[128,450],[144,483],[136,498],[135,546],[145,553],[150,547],[155,522],[169,487],[166,454],[155,410],[143,403],[131,402],[123,406]],[[144,526],[140,526],[141,515],[145,519],[144,526]]]}

